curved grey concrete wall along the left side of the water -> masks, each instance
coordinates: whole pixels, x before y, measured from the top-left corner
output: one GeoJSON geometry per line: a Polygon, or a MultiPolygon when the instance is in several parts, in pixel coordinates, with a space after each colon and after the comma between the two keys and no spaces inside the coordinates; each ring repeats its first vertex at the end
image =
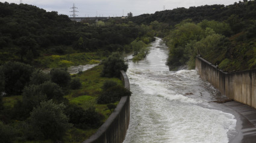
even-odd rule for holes
{"type": "MultiPolygon", "coordinates": [[[[130,90],[130,82],[125,73],[121,71],[121,79],[126,89],[130,90]]],[[[126,130],[130,122],[130,96],[120,99],[116,109],[97,132],[83,143],[121,143],[125,139],[126,130]]]]}

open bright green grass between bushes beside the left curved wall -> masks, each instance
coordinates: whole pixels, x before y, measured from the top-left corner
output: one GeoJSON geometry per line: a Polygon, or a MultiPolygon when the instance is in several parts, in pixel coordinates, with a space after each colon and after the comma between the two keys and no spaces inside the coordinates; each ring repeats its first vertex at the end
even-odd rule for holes
{"type": "MultiPolygon", "coordinates": [[[[90,70],[81,72],[77,75],[72,75],[75,78],[79,78],[82,87],[79,90],[71,90],[69,94],[64,96],[69,100],[69,103],[81,106],[84,109],[89,108],[90,106],[95,106],[96,112],[104,115],[104,120],[107,120],[108,116],[111,114],[110,110],[107,109],[107,105],[98,105],[96,104],[96,99],[101,92],[101,87],[105,81],[111,80],[117,82],[117,84],[122,85],[122,81],[118,78],[102,78],[101,75],[102,65],[91,68],[90,70]]],[[[18,100],[22,100],[22,96],[11,96],[4,97],[3,102],[4,106],[13,108],[14,103],[18,100]]],[[[117,104],[117,103],[116,103],[117,104]]],[[[64,142],[83,142],[89,138],[97,129],[76,129],[73,127],[69,129],[64,136],[64,142]]],[[[31,142],[31,141],[26,141],[31,142]]],[[[52,142],[52,141],[40,141],[40,142],[52,142]]]]}

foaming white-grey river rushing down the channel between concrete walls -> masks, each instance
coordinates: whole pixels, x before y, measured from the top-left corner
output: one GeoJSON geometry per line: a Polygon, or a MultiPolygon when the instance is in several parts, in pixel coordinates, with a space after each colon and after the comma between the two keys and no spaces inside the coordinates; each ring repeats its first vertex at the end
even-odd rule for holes
{"type": "Polygon", "coordinates": [[[236,118],[212,101],[222,98],[195,70],[169,71],[167,47],[157,38],[149,55],[129,62],[131,119],[123,143],[228,142],[236,118]]]}

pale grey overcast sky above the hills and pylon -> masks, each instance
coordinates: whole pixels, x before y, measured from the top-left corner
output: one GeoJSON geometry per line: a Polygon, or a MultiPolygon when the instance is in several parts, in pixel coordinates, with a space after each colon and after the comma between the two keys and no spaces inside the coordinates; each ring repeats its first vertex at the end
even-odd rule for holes
{"type": "MultiPolygon", "coordinates": [[[[0,2],[19,4],[20,0],[0,0],[0,2]]],[[[242,1],[242,0],[241,0],[242,1]]],[[[236,0],[22,0],[23,4],[36,5],[47,11],[58,11],[58,14],[70,16],[73,4],[75,4],[76,17],[94,16],[126,16],[133,13],[137,16],[145,13],[155,13],[155,11],[172,10],[178,7],[193,7],[200,5],[223,4],[230,5],[236,0]]]]}

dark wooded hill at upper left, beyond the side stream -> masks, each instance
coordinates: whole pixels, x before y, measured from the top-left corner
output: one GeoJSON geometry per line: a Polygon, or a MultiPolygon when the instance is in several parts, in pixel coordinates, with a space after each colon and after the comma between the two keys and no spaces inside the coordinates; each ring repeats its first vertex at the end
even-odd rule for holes
{"type": "Polygon", "coordinates": [[[0,64],[20,61],[48,67],[40,57],[98,52],[107,56],[114,51],[130,50],[125,45],[137,38],[139,28],[133,23],[72,22],[56,11],[47,12],[27,4],[0,2],[0,64]]]}

